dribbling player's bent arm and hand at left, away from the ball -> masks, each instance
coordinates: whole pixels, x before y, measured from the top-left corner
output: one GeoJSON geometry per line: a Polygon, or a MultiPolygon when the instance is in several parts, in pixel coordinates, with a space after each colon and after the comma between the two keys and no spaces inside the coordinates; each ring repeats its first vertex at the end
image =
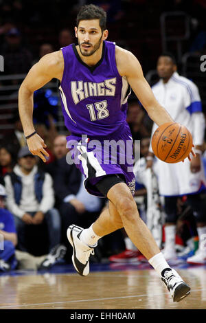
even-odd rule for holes
{"type": "MultiPolygon", "coordinates": [[[[41,58],[29,71],[19,89],[19,115],[25,136],[34,133],[33,124],[33,94],[47,84],[52,78],[61,79],[64,68],[62,52],[47,54],[41,58]]],[[[37,134],[27,139],[27,145],[33,155],[38,155],[46,161],[45,143],[37,134]],[[45,156],[44,156],[45,155],[45,156]]]]}

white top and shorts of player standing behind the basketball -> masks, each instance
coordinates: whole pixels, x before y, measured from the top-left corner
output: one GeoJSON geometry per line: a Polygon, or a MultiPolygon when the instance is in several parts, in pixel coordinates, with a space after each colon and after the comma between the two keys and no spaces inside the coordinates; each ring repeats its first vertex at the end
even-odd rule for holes
{"type": "MultiPolygon", "coordinates": [[[[194,115],[202,113],[201,98],[196,85],[187,78],[179,76],[174,72],[167,83],[163,80],[157,82],[152,87],[155,98],[175,122],[179,122],[187,127],[192,133],[195,145],[203,144],[204,125],[194,122],[194,115]]],[[[204,115],[203,115],[204,118],[204,115]]],[[[157,129],[157,124],[153,124],[152,135],[157,129]]],[[[151,137],[152,137],[151,135],[151,137]]],[[[150,149],[152,148],[150,145],[150,149]]],[[[159,192],[163,196],[174,196],[198,192],[201,187],[206,185],[203,166],[201,171],[192,173],[190,162],[167,164],[158,159],[157,173],[159,179],[159,192]]]]}

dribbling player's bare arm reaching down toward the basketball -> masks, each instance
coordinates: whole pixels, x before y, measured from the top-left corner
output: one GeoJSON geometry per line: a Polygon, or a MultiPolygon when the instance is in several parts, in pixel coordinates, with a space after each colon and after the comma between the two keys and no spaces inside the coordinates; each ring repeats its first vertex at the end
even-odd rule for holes
{"type": "Polygon", "coordinates": [[[137,58],[131,52],[117,47],[116,61],[119,74],[126,76],[130,87],[146,109],[150,118],[158,126],[161,126],[165,122],[174,122],[169,113],[157,102],[150,85],[148,85],[148,82],[144,78],[141,65],[137,58]]]}

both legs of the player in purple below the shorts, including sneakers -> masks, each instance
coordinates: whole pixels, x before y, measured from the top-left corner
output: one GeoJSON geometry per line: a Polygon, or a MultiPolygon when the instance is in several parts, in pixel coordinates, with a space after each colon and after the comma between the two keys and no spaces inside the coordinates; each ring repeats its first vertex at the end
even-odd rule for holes
{"type": "Polygon", "coordinates": [[[179,274],[174,269],[171,269],[163,258],[163,254],[161,254],[150,230],[148,230],[148,227],[140,219],[137,205],[126,184],[117,183],[108,190],[107,196],[111,201],[109,212],[108,209],[104,210],[100,218],[93,223],[88,231],[76,226],[73,228],[69,227],[68,229],[68,238],[74,250],[73,265],[76,267],[78,273],[82,276],[89,274],[89,256],[93,251],[89,243],[97,242],[101,236],[113,232],[112,230],[115,227],[119,228],[123,224],[130,239],[142,254],[148,258],[150,265],[161,276],[173,300],[179,302],[179,300],[185,298],[190,293],[190,287],[183,282],[179,274]],[[109,216],[113,217],[113,221],[109,220],[109,216]],[[122,223],[119,217],[122,219],[122,223]],[[118,224],[114,223],[116,220],[118,224]],[[84,236],[84,242],[81,241],[81,236],[84,236]]]}

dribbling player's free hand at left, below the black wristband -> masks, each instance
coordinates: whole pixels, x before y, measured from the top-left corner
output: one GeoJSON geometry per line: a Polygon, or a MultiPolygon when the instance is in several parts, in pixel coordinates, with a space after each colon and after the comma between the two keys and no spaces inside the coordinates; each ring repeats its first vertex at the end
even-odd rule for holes
{"type": "Polygon", "coordinates": [[[37,133],[27,139],[27,145],[32,155],[36,155],[40,157],[44,162],[47,161],[45,156],[49,157],[49,154],[44,149],[44,148],[47,148],[47,145],[37,133]]]}

